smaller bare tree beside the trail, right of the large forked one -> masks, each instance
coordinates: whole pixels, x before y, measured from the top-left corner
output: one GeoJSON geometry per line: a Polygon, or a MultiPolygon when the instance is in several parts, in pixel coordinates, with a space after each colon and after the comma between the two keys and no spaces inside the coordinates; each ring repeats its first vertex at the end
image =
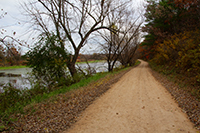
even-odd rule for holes
{"type": "Polygon", "coordinates": [[[127,8],[111,14],[108,18],[111,27],[119,32],[105,31],[106,33],[99,34],[104,39],[101,46],[107,57],[108,71],[112,71],[118,60],[125,66],[132,64],[143,21],[140,20],[140,16],[135,18],[134,13],[127,8]]]}

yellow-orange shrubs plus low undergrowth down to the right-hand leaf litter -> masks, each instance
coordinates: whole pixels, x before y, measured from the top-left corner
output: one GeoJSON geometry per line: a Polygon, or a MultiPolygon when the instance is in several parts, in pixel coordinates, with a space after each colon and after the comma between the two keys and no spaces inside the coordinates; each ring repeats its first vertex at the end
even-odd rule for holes
{"type": "Polygon", "coordinates": [[[200,100],[200,31],[185,31],[158,44],[150,66],[200,100]]]}

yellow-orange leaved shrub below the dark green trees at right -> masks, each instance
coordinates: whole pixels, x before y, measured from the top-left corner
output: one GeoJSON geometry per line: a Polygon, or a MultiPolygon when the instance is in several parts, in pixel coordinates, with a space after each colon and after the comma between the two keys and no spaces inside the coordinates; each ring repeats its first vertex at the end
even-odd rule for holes
{"type": "Polygon", "coordinates": [[[158,44],[152,61],[171,66],[189,75],[194,84],[200,84],[200,30],[174,34],[158,44]]]}

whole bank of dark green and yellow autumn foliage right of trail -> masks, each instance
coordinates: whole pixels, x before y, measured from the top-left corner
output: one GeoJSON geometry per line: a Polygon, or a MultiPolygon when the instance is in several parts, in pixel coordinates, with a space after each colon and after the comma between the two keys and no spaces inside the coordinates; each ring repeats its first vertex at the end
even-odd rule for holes
{"type": "Polygon", "coordinates": [[[200,85],[200,1],[147,0],[141,57],[200,85]]]}

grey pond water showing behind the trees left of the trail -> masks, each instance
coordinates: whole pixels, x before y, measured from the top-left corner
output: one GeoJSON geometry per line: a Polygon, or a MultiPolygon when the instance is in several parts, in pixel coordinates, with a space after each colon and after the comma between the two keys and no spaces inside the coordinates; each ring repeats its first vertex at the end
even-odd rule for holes
{"type": "MultiPolygon", "coordinates": [[[[97,63],[89,63],[90,67],[95,70],[95,72],[106,72],[108,68],[107,62],[97,62],[97,63]]],[[[117,62],[116,66],[119,66],[120,63],[117,62]]],[[[76,67],[80,67],[82,70],[86,70],[88,65],[86,63],[77,64],[76,67]]],[[[30,88],[30,82],[27,79],[29,72],[31,72],[31,68],[19,68],[19,69],[7,69],[0,70],[0,91],[2,86],[7,83],[13,84],[18,89],[30,88]]]]}

